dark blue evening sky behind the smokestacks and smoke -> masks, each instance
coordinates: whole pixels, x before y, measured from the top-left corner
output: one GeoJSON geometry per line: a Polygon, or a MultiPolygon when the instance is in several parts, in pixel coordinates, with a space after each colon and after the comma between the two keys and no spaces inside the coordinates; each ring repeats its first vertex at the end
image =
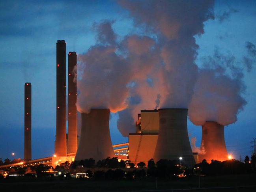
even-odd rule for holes
{"type": "MultiPolygon", "coordinates": [[[[256,44],[256,2],[217,1],[215,20],[205,22],[205,34],[196,37],[200,46],[196,64],[216,48],[241,60],[245,42],[256,44]],[[235,10],[235,11],[234,11],[235,10]],[[225,14],[226,13],[226,14],[225,14]]],[[[84,53],[95,44],[94,22],[114,20],[122,37],[136,33],[128,11],[115,1],[1,1],[0,2],[0,158],[23,158],[24,82],[32,83],[32,158],[54,153],[56,120],[56,41],[65,39],[67,52],[84,53]]],[[[256,137],[256,69],[244,77],[247,101],[238,121],[225,129],[229,153],[250,155],[256,137]]],[[[113,144],[126,142],[112,114],[113,144]]],[[[189,133],[201,142],[201,129],[188,121],[189,133]]]]}

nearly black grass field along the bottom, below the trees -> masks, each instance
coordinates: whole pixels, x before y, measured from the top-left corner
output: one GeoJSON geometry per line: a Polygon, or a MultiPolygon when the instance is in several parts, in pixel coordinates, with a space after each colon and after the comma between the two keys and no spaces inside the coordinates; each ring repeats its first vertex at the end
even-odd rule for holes
{"type": "Polygon", "coordinates": [[[243,192],[256,191],[256,174],[250,175],[226,175],[208,177],[188,177],[177,180],[166,180],[157,178],[137,178],[121,180],[97,181],[93,179],[68,179],[59,180],[48,178],[15,178],[2,179],[0,181],[0,191],[3,192],[128,192],[128,191],[200,191],[200,192],[243,192]],[[157,183],[157,188],[156,188],[157,183]],[[234,188],[223,188],[231,187],[234,188]],[[238,186],[238,188],[236,188],[238,186]],[[239,187],[251,186],[251,187],[239,187]],[[188,189],[191,190],[177,190],[188,189]],[[199,189],[200,188],[200,189],[199,189]],[[204,189],[213,188],[213,189],[204,189]]]}

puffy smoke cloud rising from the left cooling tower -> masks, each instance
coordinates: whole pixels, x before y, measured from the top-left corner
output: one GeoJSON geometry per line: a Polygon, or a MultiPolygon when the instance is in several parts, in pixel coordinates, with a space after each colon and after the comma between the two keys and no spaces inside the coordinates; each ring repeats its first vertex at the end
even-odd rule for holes
{"type": "Polygon", "coordinates": [[[91,108],[109,108],[117,112],[126,108],[127,84],[131,73],[129,63],[116,53],[114,36],[110,30],[111,22],[95,24],[99,44],[78,57],[77,110],[90,112],[91,108]]]}

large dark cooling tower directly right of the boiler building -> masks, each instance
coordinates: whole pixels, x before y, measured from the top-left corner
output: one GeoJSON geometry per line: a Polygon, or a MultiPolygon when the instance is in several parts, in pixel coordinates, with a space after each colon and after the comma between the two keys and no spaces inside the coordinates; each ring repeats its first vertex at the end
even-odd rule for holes
{"type": "Polygon", "coordinates": [[[189,166],[195,164],[187,132],[187,109],[159,109],[159,135],[153,158],[157,162],[179,161],[179,157],[189,166]]]}

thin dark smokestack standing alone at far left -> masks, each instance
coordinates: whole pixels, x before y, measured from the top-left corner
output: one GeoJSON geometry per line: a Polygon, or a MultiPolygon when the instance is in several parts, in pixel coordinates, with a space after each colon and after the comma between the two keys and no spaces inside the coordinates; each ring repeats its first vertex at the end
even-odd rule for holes
{"type": "Polygon", "coordinates": [[[31,83],[24,86],[24,160],[31,160],[31,83]]]}

